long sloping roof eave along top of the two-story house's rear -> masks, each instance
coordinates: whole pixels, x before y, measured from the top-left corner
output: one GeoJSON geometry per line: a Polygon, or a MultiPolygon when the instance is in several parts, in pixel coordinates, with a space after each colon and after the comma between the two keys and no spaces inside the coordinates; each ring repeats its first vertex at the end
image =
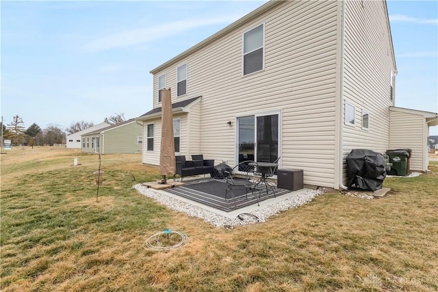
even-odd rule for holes
{"type": "Polygon", "coordinates": [[[172,59],[168,60],[164,64],[161,64],[161,65],[159,65],[156,68],[153,68],[150,71],[150,73],[151,74],[155,74],[155,73],[159,72],[160,70],[162,70],[163,68],[166,68],[170,64],[173,64],[175,62],[179,62],[179,60],[185,58],[187,55],[190,55],[194,51],[198,51],[199,49],[207,46],[207,44],[210,44],[211,42],[214,42],[215,40],[217,40],[221,36],[224,36],[225,34],[228,34],[229,31],[232,31],[236,27],[240,27],[240,25],[244,25],[244,23],[247,23],[248,21],[251,21],[256,16],[259,16],[263,12],[266,12],[267,10],[270,10],[270,8],[274,7],[275,5],[279,5],[279,3],[282,3],[282,2],[283,1],[280,1],[280,0],[270,0],[270,1],[268,1],[267,3],[261,5],[259,8],[257,8],[256,10],[253,10],[252,12],[246,14],[245,16],[243,16],[242,18],[238,19],[234,23],[231,23],[231,25],[228,25],[227,27],[224,27],[220,31],[216,32],[216,34],[214,34],[212,36],[209,36],[209,38],[206,38],[205,40],[203,40],[201,42],[198,42],[198,44],[195,44],[190,49],[187,49],[187,50],[183,51],[183,53],[180,53],[176,57],[173,57],[172,59]]]}

